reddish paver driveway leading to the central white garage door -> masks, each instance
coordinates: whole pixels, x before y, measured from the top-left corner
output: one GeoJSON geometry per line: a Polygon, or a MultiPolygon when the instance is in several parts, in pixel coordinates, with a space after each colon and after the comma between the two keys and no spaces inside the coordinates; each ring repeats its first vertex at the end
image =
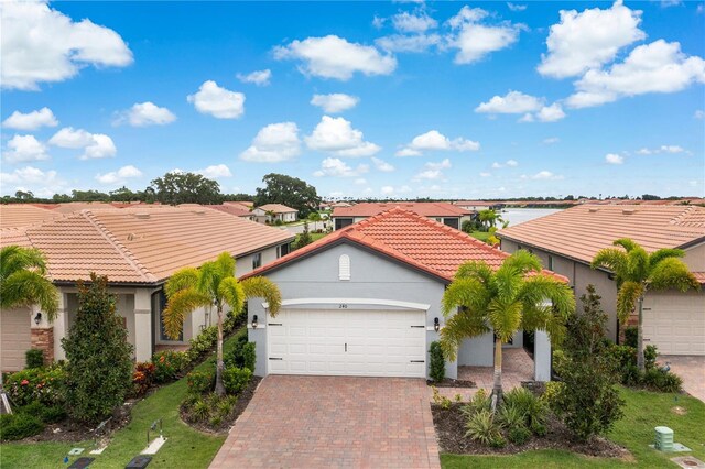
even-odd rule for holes
{"type": "Polygon", "coordinates": [[[437,468],[421,379],[269,375],[212,468],[437,468]]]}

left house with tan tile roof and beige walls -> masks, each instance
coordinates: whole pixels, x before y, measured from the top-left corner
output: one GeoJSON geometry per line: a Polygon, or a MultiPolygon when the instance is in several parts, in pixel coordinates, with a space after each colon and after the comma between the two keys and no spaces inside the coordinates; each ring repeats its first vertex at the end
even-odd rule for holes
{"type": "MultiPolygon", "coordinates": [[[[0,206],[3,226],[12,217],[19,217],[17,209],[0,206]]],[[[53,324],[36,307],[0,312],[2,371],[22,369],[30,347],[43,348],[50,359],[64,358],[61,339],[75,319],[76,281],[88,280],[90,272],[108,276],[134,357],[144,361],[158,346],[186,345],[213,321],[212,312],[199,309],[186,317],[181,340],[165,336],[163,285],[172,273],[227,251],[237,260],[237,273],[245,274],[286,254],[293,240],[286,231],[200,206],[82,210],[13,225],[0,230],[0,246],[34,247],[44,253],[48,275],[59,288],[59,312],[53,324]]]]}

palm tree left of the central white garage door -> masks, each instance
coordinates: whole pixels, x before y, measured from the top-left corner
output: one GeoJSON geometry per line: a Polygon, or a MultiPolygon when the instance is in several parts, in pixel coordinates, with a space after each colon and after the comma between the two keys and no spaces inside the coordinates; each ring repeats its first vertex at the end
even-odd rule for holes
{"type": "Polygon", "coordinates": [[[184,326],[184,318],[198,307],[215,306],[218,313],[218,345],[216,364],[216,389],[225,394],[223,384],[223,313],[229,306],[234,314],[245,307],[246,298],[263,297],[269,303],[269,312],[275,315],[281,306],[281,293],[276,285],[265,277],[251,277],[242,282],[235,276],[235,259],[223,252],[215,261],[204,263],[200,269],[185,268],[175,272],[166,282],[166,307],[163,312],[164,329],[172,339],[177,339],[184,326]]]}

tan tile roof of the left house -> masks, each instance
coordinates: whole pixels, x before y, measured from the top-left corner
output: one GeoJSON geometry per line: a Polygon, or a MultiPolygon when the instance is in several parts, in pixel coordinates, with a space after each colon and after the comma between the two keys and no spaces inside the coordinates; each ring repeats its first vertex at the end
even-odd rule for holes
{"type": "Polygon", "coordinates": [[[1,230],[0,246],[41,249],[54,281],[88,279],[154,283],[228,251],[235,257],[293,239],[286,231],[218,210],[162,207],[82,210],[18,230],[1,230]]]}

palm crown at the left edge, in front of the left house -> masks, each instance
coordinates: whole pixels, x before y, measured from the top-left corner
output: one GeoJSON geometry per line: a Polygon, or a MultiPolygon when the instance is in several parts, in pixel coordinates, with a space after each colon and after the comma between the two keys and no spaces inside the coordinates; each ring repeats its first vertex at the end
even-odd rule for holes
{"type": "Polygon", "coordinates": [[[39,305],[48,320],[56,318],[58,292],[46,277],[39,249],[6,246],[0,250],[0,307],[39,305]]]}

